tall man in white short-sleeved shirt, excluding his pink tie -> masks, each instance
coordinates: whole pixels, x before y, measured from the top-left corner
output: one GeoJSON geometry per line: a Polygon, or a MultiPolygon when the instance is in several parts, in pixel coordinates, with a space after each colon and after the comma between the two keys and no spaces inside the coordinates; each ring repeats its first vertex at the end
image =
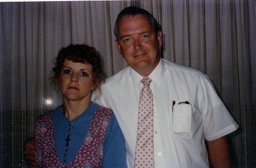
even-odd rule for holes
{"type": "Polygon", "coordinates": [[[238,126],[208,76],[160,58],[162,32],[153,16],[141,8],[121,11],[114,31],[115,45],[129,67],[106,80],[96,102],[111,107],[117,117],[126,141],[127,166],[137,164],[141,80],[149,77],[154,104],[154,166],[148,167],[229,167],[225,135],[238,126]]]}

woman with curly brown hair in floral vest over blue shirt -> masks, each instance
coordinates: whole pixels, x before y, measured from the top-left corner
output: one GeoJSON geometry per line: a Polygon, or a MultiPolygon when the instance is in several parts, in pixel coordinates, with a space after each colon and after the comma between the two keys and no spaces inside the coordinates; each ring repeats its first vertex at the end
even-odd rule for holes
{"type": "Polygon", "coordinates": [[[93,89],[101,91],[100,55],[88,45],[69,45],[55,61],[51,79],[63,105],[37,120],[38,167],[126,167],[125,142],[114,113],[90,101],[93,89]]]}

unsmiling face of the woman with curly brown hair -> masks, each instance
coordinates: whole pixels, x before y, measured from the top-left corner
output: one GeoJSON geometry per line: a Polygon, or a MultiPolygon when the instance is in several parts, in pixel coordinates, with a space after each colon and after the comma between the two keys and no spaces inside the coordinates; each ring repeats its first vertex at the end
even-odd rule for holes
{"type": "Polygon", "coordinates": [[[90,92],[94,87],[92,65],[65,59],[60,72],[59,87],[63,99],[90,101],[90,92]]]}

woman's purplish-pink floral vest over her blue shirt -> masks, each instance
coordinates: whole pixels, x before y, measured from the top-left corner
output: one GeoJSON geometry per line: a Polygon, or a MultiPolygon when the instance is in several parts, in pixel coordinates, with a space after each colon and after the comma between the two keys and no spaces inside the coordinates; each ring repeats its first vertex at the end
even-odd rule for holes
{"type": "Polygon", "coordinates": [[[103,142],[112,109],[99,106],[89,131],[75,159],[65,165],[57,156],[52,111],[43,114],[36,123],[36,162],[38,167],[101,167],[103,142]]]}

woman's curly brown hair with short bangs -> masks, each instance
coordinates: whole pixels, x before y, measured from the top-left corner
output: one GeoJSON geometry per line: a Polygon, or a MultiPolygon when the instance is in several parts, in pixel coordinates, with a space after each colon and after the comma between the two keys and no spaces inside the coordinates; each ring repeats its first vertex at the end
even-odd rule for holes
{"type": "Polygon", "coordinates": [[[89,63],[93,67],[94,89],[98,89],[101,94],[101,83],[105,80],[102,78],[101,57],[98,51],[85,44],[69,45],[62,48],[53,63],[55,67],[52,68],[53,76],[50,77],[53,84],[59,85],[60,72],[63,67],[65,59],[72,62],[89,63]]]}

